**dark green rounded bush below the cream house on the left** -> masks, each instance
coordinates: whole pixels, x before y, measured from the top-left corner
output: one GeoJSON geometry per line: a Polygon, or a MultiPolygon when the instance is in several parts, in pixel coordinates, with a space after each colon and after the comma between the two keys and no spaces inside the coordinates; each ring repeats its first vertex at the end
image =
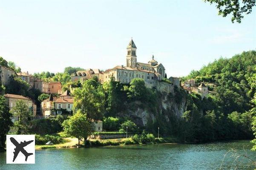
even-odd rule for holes
{"type": "Polygon", "coordinates": [[[57,133],[62,130],[61,125],[57,119],[35,119],[30,121],[30,131],[32,133],[45,135],[57,133]]]}

